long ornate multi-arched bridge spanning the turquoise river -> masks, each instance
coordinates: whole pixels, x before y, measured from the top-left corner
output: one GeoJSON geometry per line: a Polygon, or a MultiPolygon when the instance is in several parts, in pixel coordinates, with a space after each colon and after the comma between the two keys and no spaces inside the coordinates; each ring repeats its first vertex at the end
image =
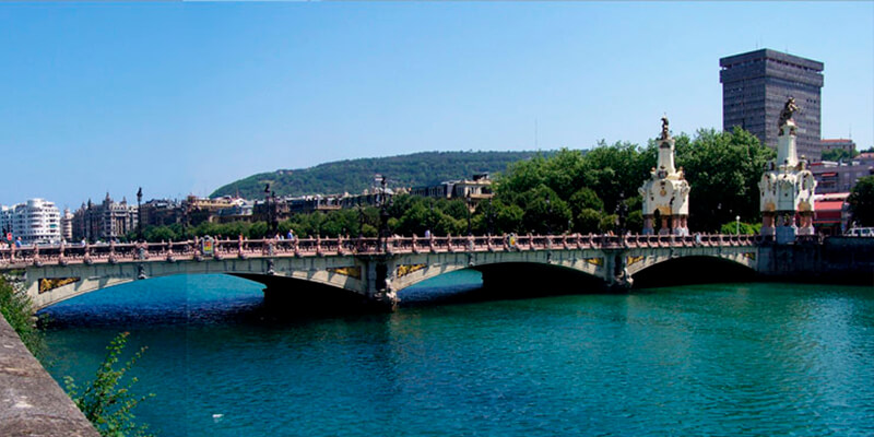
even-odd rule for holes
{"type": "Polygon", "coordinates": [[[388,238],[224,239],[0,249],[35,309],[132,281],[223,273],[265,285],[265,298],[391,308],[397,293],[462,269],[484,285],[550,284],[623,290],[642,272],[681,259],[708,267],[775,270],[765,237],[747,235],[504,235],[388,238]]]}

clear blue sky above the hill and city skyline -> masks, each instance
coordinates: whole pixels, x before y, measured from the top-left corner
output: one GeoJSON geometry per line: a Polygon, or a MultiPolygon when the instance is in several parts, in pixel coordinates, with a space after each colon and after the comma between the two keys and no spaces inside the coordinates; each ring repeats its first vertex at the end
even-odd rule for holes
{"type": "Polygon", "coordinates": [[[0,3],[0,204],[721,129],[719,58],[759,48],[824,62],[823,137],[874,145],[870,1],[0,3]]]}

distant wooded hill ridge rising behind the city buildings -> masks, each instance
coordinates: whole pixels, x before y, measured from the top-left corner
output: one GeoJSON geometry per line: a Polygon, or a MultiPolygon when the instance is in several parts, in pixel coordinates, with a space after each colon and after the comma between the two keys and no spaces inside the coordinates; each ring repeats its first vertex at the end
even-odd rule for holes
{"type": "Polygon", "coordinates": [[[546,152],[421,152],[410,155],[335,161],[300,169],[280,169],[260,173],[236,180],[213,191],[210,197],[239,196],[260,199],[264,185],[276,196],[359,193],[381,174],[391,187],[437,185],[446,180],[470,178],[474,173],[495,174],[510,163],[529,160],[546,152]]]}

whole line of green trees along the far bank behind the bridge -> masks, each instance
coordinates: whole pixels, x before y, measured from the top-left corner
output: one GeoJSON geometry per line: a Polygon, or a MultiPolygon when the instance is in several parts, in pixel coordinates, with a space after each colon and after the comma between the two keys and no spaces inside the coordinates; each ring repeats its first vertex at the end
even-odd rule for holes
{"type": "MultiPolygon", "coordinates": [[[[731,132],[701,129],[674,139],[675,164],[683,167],[692,186],[690,229],[734,233],[740,227],[744,234],[758,233],[758,181],[775,152],[740,128],[731,132]],[[741,217],[740,226],[736,216],[741,217]]],[[[386,205],[385,214],[376,206],[297,214],[280,222],[275,233],[376,237],[383,218],[391,234],[405,236],[423,236],[426,231],[435,235],[601,234],[621,228],[638,233],[643,226],[638,188],[650,177],[657,157],[654,140],[646,146],[601,141],[592,150],[563,149],[510,164],[495,177],[494,198],[471,209],[464,200],[400,194],[386,205]]],[[[851,206],[870,204],[870,181],[860,180],[857,191],[864,196],[851,196],[851,206]]],[[[861,211],[858,215],[867,220],[861,211]]],[[[264,222],[201,223],[187,228],[174,224],[144,231],[150,241],[205,235],[263,238],[270,234],[273,229],[264,222]]]]}

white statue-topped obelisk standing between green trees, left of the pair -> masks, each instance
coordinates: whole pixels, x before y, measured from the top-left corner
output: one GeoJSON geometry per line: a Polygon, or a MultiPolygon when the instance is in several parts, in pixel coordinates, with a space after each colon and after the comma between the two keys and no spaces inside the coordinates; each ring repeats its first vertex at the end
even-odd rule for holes
{"type": "Polygon", "coordinates": [[[688,235],[689,182],[683,167],[674,168],[674,139],[668,129],[668,117],[662,117],[659,138],[659,162],[650,170],[650,179],[638,190],[643,197],[643,234],[654,233],[653,220],[661,220],[661,235],[688,235]]]}

